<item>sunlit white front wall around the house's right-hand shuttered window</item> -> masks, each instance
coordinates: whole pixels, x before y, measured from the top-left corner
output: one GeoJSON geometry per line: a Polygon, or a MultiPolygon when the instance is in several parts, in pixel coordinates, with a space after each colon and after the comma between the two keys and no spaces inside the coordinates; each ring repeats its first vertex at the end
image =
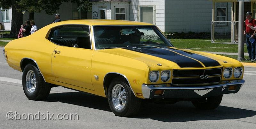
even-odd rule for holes
{"type": "MultiPolygon", "coordinates": [[[[130,3],[130,20],[139,21],[138,19],[138,5],[156,5],[156,26],[161,30],[165,31],[164,28],[164,2],[165,0],[131,0],[130,3]]],[[[153,15],[153,14],[152,14],[153,15]]]]}

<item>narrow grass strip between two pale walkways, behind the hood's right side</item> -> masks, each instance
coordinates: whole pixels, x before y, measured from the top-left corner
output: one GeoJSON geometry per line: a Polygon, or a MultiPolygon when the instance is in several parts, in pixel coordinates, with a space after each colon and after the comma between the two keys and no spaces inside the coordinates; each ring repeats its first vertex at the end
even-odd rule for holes
{"type": "MultiPolygon", "coordinates": [[[[200,48],[200,49],[191,49],[193,51],[212,51],[212,52],[230,52],[230,53],[237,53],[238,52],[238,47],[221,47],[221,48],[200,48]]],[[[244,52],[247,52],[247,48],[244,47],[244,52]]]]}

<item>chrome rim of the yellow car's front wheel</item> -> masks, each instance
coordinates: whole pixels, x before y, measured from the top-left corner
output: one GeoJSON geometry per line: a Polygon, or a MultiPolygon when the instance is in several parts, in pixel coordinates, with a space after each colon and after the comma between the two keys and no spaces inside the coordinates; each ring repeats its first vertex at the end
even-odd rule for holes
{"type": "Polygon", "coordinates": [[[124,108],[126,104],[126,92],[124,86],[116,84],[112,89],[112,103],[117,110],[124,108]]]}

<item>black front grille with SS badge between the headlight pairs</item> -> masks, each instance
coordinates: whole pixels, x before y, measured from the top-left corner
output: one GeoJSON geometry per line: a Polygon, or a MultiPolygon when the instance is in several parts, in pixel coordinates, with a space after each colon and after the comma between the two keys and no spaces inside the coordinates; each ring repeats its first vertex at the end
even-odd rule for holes
{"type": "Polygon", "coordinates": [[[173,70],[172,85],[208,85],[221,80],[221,68],[206,70],[173,70]]]}

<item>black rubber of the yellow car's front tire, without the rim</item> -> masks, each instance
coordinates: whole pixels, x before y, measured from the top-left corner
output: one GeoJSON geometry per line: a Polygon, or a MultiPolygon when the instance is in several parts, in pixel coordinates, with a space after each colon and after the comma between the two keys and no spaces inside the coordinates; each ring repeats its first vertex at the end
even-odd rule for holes
{"type": "Polygon", "coordinates": [[[115,78],[112,80],[108,88],[108,104],[111,111],[116,116],[127,117],[137,114],[140,110],[141,99],[134,96],[132,89],[124,78],[115,78]],[[122,109],[117,109],[112,102],[112,90],[114,86],[118,84],[121,84],[126,92],[126,103],[122,109]]]}

